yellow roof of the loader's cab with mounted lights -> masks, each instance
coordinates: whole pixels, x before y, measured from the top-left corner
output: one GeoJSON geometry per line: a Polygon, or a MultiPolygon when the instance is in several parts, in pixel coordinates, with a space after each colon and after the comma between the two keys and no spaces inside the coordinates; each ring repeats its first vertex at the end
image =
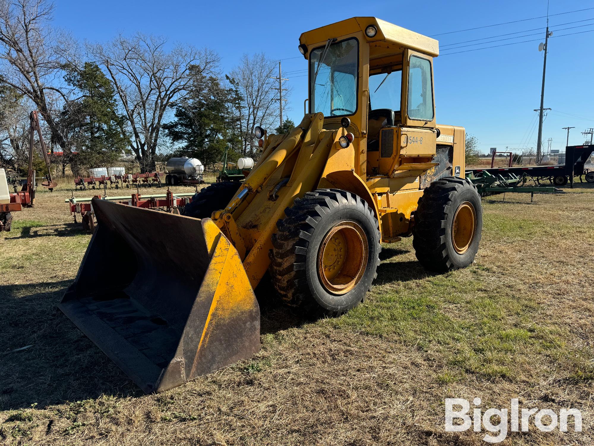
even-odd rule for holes
{"type": "MultiPolygon", "coordinates": [[[[400,26],[388,23],[375,17],[352,17],[341,20],[330,25],[316,28],[302,33],[299,37],[299,43],[305,45],[323,45],[328,39],[333,37],[347,36],[352,33],[362,31],[365,34],[365,28],[369,25],[377,27],[377,34],[374,37],[365,36],[370,44],[385,42],[388,44],[386,49],[410,48],[422,52],[426,55],[437,57],[440,54],[439,43],[431,37],[415,33],[400,26]]],[[[376,54],[381,51],[374,51],[376,54]]],[[[306,55],[306,58],[308,54],[306,55]]]]}

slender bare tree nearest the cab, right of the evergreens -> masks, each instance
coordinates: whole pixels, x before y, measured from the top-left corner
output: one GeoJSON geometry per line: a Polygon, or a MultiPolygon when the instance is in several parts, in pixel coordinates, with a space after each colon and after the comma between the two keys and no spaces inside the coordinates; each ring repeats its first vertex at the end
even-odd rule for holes
{"type": "Polygon", "coordinates": [[[274,121],[279,118],[279,104],[276,100],[278,86],[273,77],[277,74],[277,62],[267,59],[263,53],[249,56],[244,54],[239,65],[230,73],[230,83],[241,96],[238,121],[243,137],[243,154],[254,155],[258,145],[254,137],[254,128],[276,127],[274,121]]]}

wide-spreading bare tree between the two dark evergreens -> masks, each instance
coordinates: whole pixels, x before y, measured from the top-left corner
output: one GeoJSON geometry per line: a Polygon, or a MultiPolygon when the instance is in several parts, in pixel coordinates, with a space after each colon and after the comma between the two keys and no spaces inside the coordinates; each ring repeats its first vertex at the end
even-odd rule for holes
{"type": "Polygon", "coordinates": [[[132,134],[130,147],[143,171],[155,168],[163,117],[187,95],[189,68],[208,76],[219,64],[219,56],[208,49],[178,44],[168,51],[166,45],[164,37],[135,34],[89,47],[116,88],[132,134]]]}

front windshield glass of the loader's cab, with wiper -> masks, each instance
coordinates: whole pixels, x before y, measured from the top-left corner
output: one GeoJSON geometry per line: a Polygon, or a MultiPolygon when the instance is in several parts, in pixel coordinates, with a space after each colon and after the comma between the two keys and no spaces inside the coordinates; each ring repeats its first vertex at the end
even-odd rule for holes
{"type": "Polygon", "coordinates": [[[311,111],[324,116],[352,115],[357,109],[358,42],[317,48],[309,57],[311,111]],[[326,51],[325,51],[326,50],[326,51]],[[317,75],[316,75],[317,73],[317,75]]]}

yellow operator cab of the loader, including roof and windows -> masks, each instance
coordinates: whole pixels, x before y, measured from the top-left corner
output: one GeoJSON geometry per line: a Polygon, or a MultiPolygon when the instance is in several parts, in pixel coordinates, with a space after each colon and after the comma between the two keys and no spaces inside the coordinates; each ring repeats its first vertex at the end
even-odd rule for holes
{"type": "Polygon", "coordinates": [[[356,174],[391,177],[401,164],[431,162],[437,40],[375,17],[343,20],[299,40],[309,61],[309,113],[323,113],[329,130],[349,117],[356,174]]]}

